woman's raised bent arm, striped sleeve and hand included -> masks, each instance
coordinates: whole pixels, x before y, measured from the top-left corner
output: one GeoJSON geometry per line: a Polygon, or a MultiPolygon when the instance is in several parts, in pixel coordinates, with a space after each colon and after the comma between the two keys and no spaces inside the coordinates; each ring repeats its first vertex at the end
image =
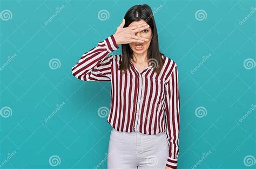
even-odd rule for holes
{"type": "Polygon", "coordinates": [[[82,55],[77,64],[72,67],[72,74],[76,78],[84,81],[110,81],[113,55],[108,54],[117,50],[119,44],[143,43],[149,40],[135,35],[149,25],[140,24],[129,27],[124,25],[125,19],[117,27],[116,33],[100,41],[96,47],[82,55]]]}

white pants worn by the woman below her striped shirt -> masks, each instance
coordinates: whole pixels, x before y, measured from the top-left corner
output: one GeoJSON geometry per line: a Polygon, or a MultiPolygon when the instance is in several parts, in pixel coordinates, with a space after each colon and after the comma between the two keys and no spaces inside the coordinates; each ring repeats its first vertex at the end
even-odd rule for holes
{"type": "Polygon", "coordinates": [[[145,135],[112,129],[107,156],[108,169],[165,169],[169,155],[166,133],[145,135]]]}

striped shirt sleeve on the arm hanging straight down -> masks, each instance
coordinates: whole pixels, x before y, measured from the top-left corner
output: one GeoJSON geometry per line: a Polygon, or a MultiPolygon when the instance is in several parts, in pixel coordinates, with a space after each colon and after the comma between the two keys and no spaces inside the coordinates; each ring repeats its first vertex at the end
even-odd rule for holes
{"type": "Polygon", "coordinates": [[[166,108],[166,134],[169,144],[169,157],[166,166],[177,168],[179,155],[179,86],[178,86],[178,70],[177,65],[173,67],[173,71],[165,86],[165,108],[166,108]]]}

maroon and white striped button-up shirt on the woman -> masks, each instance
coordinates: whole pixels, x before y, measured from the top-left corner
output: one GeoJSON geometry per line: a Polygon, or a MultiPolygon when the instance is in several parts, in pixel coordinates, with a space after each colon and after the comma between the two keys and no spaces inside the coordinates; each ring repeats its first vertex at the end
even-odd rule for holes
{"type": "Polygon", "coordinates": [[[147,135],[166,132],[169,157],[166,166],[176,168],[179,154],[179,87],[176,63],[164,59],[159,75],[153,66],[139,72],[131,63],[127,74],[119,67],[122,55],[109,55],[119,46],[113,35],[82,55],[72,74],[83,81],[111,81],[111,105],[107,122],[124,132],[147,135]]]}

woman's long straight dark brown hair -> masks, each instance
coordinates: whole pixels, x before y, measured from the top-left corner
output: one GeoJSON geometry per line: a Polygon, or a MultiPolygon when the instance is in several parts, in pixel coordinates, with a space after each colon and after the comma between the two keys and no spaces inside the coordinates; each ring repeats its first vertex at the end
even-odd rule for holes
{"type": "MultiPolygon", "coordinates": [[[[164,65],[161,55],[164,54],[159,52],[157,27],[156,23],[154,22],[153,13],[150,6],[147,4],[134,5],[125,13],[124,19],[124,27],[127,27],[132,22],[139,21],[141,19],[150,25],[152,30],[152,39],[147,50],[147,60],[149,61],[149,65],[153,66],[154,71],[159,74],[164,65]]],[[[126,73],[127,68],[131,66],[132,52],[133,51],[131,50],[129,44],[122,44],[122,61],[120,62],[119,70],[123,70],[126,73]]]]}

